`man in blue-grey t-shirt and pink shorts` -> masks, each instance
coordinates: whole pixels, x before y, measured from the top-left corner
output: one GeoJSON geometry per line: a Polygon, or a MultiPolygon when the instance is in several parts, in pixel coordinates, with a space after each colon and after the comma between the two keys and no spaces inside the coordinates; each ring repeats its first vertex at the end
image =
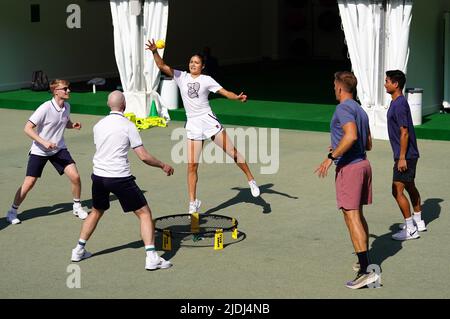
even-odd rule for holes
{"type": "Polygon", "coordinates": [[[331,150],[316,169],[319,177],[325,177],[328,169],[336,164],[337,208],[344,214],[358,263],[356,278],[346,287],[358,289],[378,281],[378,275],[368,271],[369,227],[363,215],[363,205],[372,203],[372,168],[366,151],[372,148],[369,118],[354,100],[357,79],[351,72],[334,75],[334,92],[339,105],[331,120],[331,150]]]}

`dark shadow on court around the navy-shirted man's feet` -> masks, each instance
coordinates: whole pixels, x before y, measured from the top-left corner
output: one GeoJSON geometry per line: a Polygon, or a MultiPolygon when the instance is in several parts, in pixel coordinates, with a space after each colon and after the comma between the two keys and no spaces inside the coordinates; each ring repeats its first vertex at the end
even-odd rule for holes
{"type": "MultiPolygon", "coordinates": [[[[425,221],[427,228],[430,224],[441,214],[441,198],[429,198],[422,204],[422,219],[425,221]]],[[[400,214],[400,211],[399,211],[400,214]]],[[[389,257],[394,256],[402,249],[402,242],[392,239],[392,235],[398,232],[399,223],[392,224],[389,227],[389,232],[383,235],[377,236],[370,234],[370,237],[374,238],[370,247],[369,256],[370,262],[380,266],[389,257]]],[[[419,238],[419,240],[421,240],[419,238]]]]}

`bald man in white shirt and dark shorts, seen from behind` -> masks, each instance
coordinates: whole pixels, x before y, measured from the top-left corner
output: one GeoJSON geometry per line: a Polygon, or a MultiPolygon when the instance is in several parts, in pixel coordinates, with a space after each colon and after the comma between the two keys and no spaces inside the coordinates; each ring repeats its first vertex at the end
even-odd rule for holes
{"type": "Polygon", "coordinates": [[[140,221],[141,237],[145,245],[145,269],[165,269],[172,263],[158,256],[155,250],[155,227],[147,201],[131,175],[128,151],[134,150],[145,164],[161,168],[167,176],[173,168],[150,155],[142,144],[136,126],[124,117],[125,97],[120,91],[108,96],[111,112],[94,126],[94,172],[92,174],[92,211],[81,228],[80,239],[72,250],[72,261],[91,256],[85,250],[86,241],[94,232],[103,213],[109,209],[109,194],[119,199],[124,212],[133,211],[140,221]]]}

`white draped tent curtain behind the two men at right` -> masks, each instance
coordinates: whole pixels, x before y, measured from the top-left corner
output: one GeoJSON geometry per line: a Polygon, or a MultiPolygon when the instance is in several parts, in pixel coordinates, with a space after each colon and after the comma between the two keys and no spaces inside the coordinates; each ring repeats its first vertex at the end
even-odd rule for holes
{"type": "Polygon", "coordinates": [[[386,70],[406,73],[412,0],[338,0],[345,39],[358,78],[358,98],[372,135],[388,139],[386,70]]]}

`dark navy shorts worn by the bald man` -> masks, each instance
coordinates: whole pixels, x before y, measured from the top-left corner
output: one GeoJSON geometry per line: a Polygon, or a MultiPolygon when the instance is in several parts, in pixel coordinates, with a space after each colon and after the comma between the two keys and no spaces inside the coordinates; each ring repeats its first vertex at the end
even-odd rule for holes
{"type": "Polygon", "coordinates": [[[109,194],[119,199],[124,212],[134,212],[145,205],[147,200],[134,181],[136,177],[101,177],[92,174],[92,206],[95,209],[109,208],[109,194]]]}

